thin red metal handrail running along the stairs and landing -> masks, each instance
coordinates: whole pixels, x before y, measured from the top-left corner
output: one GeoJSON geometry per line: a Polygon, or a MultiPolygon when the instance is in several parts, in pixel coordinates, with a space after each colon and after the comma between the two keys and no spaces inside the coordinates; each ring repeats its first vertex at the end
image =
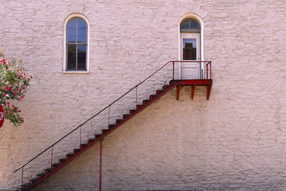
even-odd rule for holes
{"type": "MultiPolygon", "coordinates": [[[[25,164],[23,164],[21,167],[17,168],[17,170],[14,171],[17,172],[18,170],[20,170],[22,168],[22,184],[23,184],[23,168],[24,166],[26,166],[27,164],[29,164],[31,161],[35,160],[37,157],[39,157],[41,154],[43,154],[44,152],[46,152],[48,149],[53,148],[54,145],[56,145],[57,143],[59,143],[61,140],[63,140],[65,137],[67,137],[68,135],[70,135],[71,133],[73,133],[74,131],[76,131],[78,128],[81,128],[82,125],[84,125],[85,123],[87,123],[88,121],[90,121],[91,119],[93,119],[94,117],[96,117],[98,114],[100,114],[102,111],[106,110],[107,108],[109,108],[111,105],[113,105],[114,103],[116,103],[118,100],[120,100],[122,97],[124,97],[126,94],[128,94],[129,92],[131,92],[132,90],[134,90],[136,88],[136,103],[137,103],[137,87],[142,84],[144,81],[146,81],[148,78],[150,78],[151,76],[153,76],[156,72],[158,72],[159,70],[161,70],[164,66],[166,66],[169,63],[173,64],[173,80],[174,80],[174,63],[175,62],[200,62],[200,63],[206,63],[206,79],[211,79],[211,74],[209,73],[209,78],[208,78],[208,64],[210,65],[210,72],[211,72],[211,61],[178,61],[178,60],[173,60],[173,61],[169,61],[167,63],[165,63],[163,66],[161,66],[160,68],[158,68],[155,72],[153,72],[150,76],[148,76],[147,78],[145,78],[144,80],[142,80],[139,84],[137,84],[136,86],[134,86],[133,88],[131,88],[130,90],[128,90],[128,92],[126,92],[125,94],[123,94],[121,97],[119,97],[118,99],[116,99],[114,102],[112,102],[111,104],[109,104],[108,106],[106,106],[104,109],[102,109],[101,111],[99,111],[98,113],[96,113],[95,115],[93,115],[92,117],[90,117],[88,120],[86,120],[84,123],[82,123],[81,125],[79,125],[78,127],[76,127],[74,130],[70,131],[69,133],[67,133],[65,136],[63,136],[61,139],[59,139],[58,141],[56,141],[55,143],[53,143],[51,146],[49,146],[47,149],[45,149],[44,151],[42,151],[41,153],[39,153],[37,156],[33,157],[31,160],[29,160],[28,162],[26,162],[25,164]]],[[[108,114],[109,115],[109,114],[108,114]]],[[[81,135],[80,135],[80,139],[81,139],[81,135]]],[[[80,141],[81,142],[81,141],[80,141]]],[[[51,160],[53,158],[53,155],[51,156],[51,160]]]]}

